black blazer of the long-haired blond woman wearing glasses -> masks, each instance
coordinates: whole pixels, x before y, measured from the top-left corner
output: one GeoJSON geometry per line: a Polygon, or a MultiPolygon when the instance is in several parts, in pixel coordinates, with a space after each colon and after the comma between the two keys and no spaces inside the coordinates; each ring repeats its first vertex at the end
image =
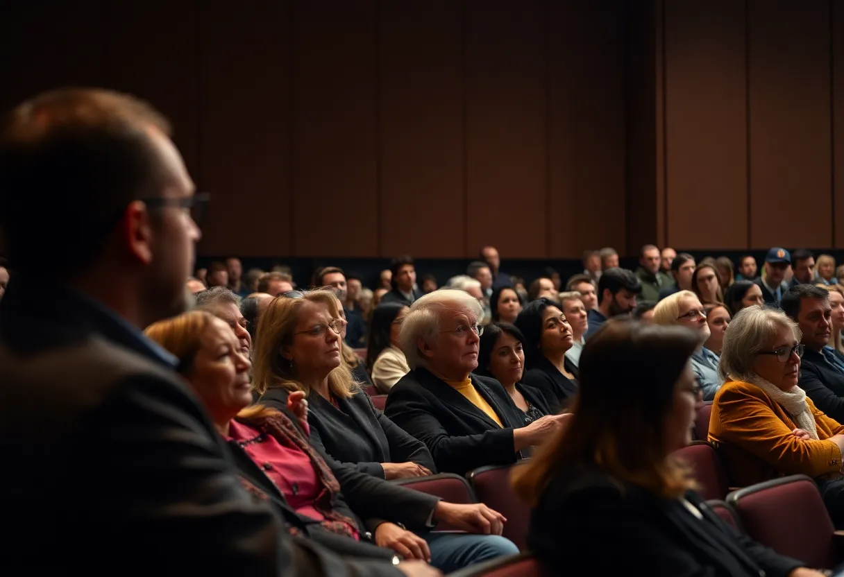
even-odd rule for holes
{"type": "MultiPolygon", "coordinates": [[[[261,403],[284,410],[287,391],[273,387],[262,396],[261,403]]],[[[436,472],[428,447],[376,410],[365,392],[338,399],[337,404],[339,408],[317,392],[308,396],[311,445],[337,461],[381,479],[384,478],[381,463],[413,461],[436,472]]]]}

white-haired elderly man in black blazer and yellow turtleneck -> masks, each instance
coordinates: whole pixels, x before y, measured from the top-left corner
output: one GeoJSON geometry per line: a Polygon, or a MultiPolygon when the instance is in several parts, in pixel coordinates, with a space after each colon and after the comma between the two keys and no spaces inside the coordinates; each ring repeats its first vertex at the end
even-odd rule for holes
{"type": "Polygon", "coordinates": [[[410,372],[390,390],[385,414],[427,445],[440,472],[514,463],[568,417],[549,415],[522,427],[504,387],[472,375],[482,314],[470,294],[438,290],[414,302],[399,333],[410,372]]]}

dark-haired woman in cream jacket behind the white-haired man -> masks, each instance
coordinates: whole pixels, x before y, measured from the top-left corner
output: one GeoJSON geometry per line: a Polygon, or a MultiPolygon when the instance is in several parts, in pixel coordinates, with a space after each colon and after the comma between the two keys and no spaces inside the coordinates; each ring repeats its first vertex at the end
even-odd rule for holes
{"type": "Polygon", "coordinates": [[[366,366],[378,392],[387,394],[399,379],[410,372],[408,360],[398,348],[398,331],[408,307],[402,303],[382,303],[372,311],[366,348],[366,366]]]}

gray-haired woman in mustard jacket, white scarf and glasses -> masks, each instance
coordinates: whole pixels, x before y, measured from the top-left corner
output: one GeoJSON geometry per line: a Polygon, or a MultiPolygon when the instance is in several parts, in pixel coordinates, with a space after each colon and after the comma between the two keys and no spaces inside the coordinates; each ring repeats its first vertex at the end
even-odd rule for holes
{"type": "Polygon", "coordinates": [[[781,310],[752,306],[735,315],[719,367],[709,439],[733,485],[781,475],[814,477],[836,527],[844,526],[844,426],[798,386],[800,330],[781,310]]]}

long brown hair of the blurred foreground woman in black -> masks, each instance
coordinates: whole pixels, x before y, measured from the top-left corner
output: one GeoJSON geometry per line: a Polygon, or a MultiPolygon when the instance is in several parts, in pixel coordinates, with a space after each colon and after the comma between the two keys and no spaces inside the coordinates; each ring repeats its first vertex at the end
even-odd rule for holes
{"type": "Polygon", "coordinates": [[[662,497],[694,488],[690,469],[665,458],[663,418],[699,343],[684,326],[605,322],[583,347],[571,422],[514,474],[522,500],[535,506],[555,475],[578,466],[598,466],[662,497]],[[616,368],[634,365],[635,382],[619,380],[616,368]]]}

